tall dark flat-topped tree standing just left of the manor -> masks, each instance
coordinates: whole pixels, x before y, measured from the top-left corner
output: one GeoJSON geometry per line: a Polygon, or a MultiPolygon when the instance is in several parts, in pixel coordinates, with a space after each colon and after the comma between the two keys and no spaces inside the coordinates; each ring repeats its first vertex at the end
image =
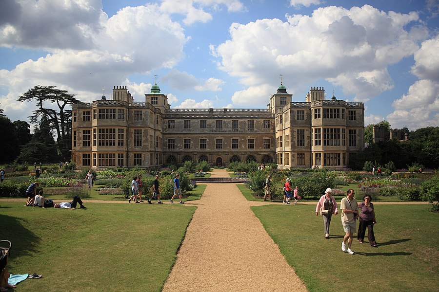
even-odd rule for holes
{"type": "Polygon", "coordinates": [[[29,121],[31,124],[40,126],[44,121],[44,128],[54,131],[57,134],[58,152],[64,157],[68,157],[70,144],[63,143],[69,140],[72,130],[72,110],[68,107],[78,103],[75,94],[69,94],[65,90],[56,89],[56,86],[34,86],[21,95],[18,101],[36,101],[37,109],[34,110],[29,121]],[[56,104],[57,109],[52,109],[47,104],[56,104]]]}

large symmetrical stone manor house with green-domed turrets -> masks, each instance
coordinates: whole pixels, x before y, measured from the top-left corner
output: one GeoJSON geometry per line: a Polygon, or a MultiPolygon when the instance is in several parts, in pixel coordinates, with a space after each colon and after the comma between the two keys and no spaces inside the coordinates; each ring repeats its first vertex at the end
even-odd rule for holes
{"type": "Polygon", "coordinates": [[[281,83],[266,109],[171,109],[157,83],[144,103],[115,86],[112,100],[81,102],[72,112],[72,161],[80,169],[187,160],[339,169],[363,148],[364,105],[327,100],[322,87],[294,102],[281,83]]]}

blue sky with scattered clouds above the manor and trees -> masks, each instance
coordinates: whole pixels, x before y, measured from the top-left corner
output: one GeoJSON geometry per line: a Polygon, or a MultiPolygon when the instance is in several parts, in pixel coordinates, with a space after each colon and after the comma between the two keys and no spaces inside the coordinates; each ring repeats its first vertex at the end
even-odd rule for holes
{"type": "Polygon", "coordinates": [[[438,0],[2,0],[0,108],[55,85],[81,101],[158,85],[171,108],[266,108],[280,85],[363,102],[365,124],[439,126],[438,0]],[[123,3],[123,4],[122,4],[123,3]]]}

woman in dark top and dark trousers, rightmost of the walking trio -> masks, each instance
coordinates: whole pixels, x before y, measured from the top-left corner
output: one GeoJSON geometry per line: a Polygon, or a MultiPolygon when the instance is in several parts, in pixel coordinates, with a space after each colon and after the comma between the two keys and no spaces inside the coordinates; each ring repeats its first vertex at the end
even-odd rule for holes
{"type": "Polygon", "coordinates": [[[364,195],[363,201],[358,203],[361,214],[359,215],[357,239],[359,243],[363,243],[367,228],[367,239],[369,240],[370,246],[377,247],[378,245],[374,236],[374,224],[377,223],[377,221],[375,220],[374,204],[370,201],[370,196],[364,195]]]}

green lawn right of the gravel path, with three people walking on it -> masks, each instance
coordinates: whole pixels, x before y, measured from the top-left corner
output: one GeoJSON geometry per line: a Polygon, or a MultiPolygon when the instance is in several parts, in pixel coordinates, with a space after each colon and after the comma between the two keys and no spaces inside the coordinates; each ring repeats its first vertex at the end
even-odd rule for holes
{"type": "Polygon", "coordinates": [[[350,291],[359,286],[369,291],[437,291],[439,214],[428,212],[428,206],[376,205],[379,247],[370,247],[367,238],[359,244],[355,234],[354,256],[340,249],[344,236],[340,215],[332,217],[331,239],[325,239],[323,220],[315,216],[315,209],[314,205],[252,207],[310,291],[350,291]]]}

